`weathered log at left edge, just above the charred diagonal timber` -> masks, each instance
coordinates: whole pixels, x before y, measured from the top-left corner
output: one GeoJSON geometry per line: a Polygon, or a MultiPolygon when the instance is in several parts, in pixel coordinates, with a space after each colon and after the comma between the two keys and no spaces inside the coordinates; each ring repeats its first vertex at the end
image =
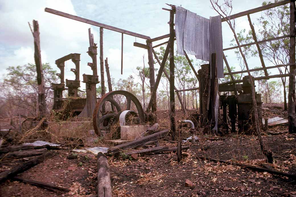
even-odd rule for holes
{"type": "Polygon", "coordinates": [[[28,149],[28,150],[19,150],[19,151],[13,151],[9,152],[7,154],[3,154],[0,156],[1,160],[9,160],[9,159],[18,159],[22,157],[30,157],[30,156],[36,156],[36,155],[42,155],[47,152],[46,148],[41,149],[28,149]]]}

